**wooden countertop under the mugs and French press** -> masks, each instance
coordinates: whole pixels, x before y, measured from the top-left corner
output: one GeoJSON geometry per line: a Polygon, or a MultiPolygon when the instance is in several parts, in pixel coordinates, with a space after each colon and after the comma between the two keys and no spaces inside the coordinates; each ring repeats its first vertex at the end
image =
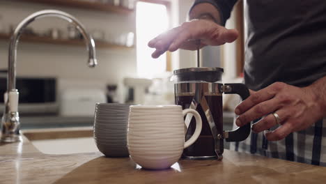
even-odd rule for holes
{"type": "Polygon", "coordinates": [[[152,171],[100,152],[45,155],[27,139],[0,144],[0,183],[326,183],[326,167],[224,151],[224,159],[180,160],[152,171]]]}

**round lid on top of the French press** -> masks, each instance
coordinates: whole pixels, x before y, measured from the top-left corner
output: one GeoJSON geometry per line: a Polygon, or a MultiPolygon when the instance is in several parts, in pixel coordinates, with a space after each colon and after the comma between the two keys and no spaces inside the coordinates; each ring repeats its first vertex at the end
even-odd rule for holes
{"type": "Polygon", "coordinates": [[[223,68],[196,67],[173,71],[174,82],[203,81],[217,82],[222,80],[223,68]]]}

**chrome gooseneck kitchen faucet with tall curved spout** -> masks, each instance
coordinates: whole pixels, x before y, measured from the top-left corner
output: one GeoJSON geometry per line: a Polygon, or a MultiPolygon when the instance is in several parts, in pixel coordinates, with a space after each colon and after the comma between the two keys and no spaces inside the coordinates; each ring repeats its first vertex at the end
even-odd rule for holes
{"type": "Polygon", "coordinates": [[[5,109],[1,120],[1,139],[2,142],[22,141],[20,134],[20,116],[18,113],[18,90],[16,89],[16,53],[17,44],[24,28],[42,17],[59,17],[63,20],[68,20],[75,24],[80,31],[88,49],[88,66],[95,67],[97,60],[95,59],[95,43],[93,38],[86,33],[84,26],[72,15],[59,10],[41,10],[26,17],[13,32],[10,39],[9,55],[8,55],[8,76],[7,76],[7,91],[4,94],[5,109]]]}

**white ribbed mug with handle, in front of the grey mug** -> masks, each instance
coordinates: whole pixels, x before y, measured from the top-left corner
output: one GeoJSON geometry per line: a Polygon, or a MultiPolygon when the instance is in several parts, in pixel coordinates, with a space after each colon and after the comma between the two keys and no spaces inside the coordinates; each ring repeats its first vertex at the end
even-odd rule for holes
{"type": "Polygon", "coordinates": [[[201,133],[201,116],[180,105],[132,105],[127,128],[127,148],[134,162],[146,169],[166,169],[177,162],[183,149],[201,133]],[[194,135],[185,141],[184,116],[196,119],[194,135]]]}

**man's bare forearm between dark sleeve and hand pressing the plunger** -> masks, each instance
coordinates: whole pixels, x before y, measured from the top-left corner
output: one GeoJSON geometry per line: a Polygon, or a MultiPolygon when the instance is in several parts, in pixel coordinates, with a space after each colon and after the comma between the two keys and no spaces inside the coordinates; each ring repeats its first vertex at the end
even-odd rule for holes
{"type": "Polygon", "coordinates": [[[221,24],[221,17],[219,11],[210,3],[199,3],[189,12],[190,20],[193,19],[210,19],[217,24],[221,24]]]}

